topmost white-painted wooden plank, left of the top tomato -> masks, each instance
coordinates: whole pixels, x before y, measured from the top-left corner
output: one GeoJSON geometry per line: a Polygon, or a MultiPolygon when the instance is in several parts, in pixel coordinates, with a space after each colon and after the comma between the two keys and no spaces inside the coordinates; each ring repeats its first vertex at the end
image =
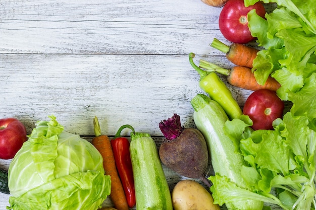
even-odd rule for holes
{"type": "Polygon", "coordinates": [[[201,1],[1,1],[0,53],[219,53],[220,8],[201,1]]]}

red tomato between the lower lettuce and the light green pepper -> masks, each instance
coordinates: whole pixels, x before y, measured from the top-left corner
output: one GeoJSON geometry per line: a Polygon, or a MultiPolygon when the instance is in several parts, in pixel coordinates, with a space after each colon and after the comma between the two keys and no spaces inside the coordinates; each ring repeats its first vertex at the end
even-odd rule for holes
{"type": "Polygon", "coordinates": [[[272,122],[282,117],[283,109],[284,103],[276,92],[260,89],[247,98],[243,113],[252,120],[254,130],[273,129],[272,122]]]}

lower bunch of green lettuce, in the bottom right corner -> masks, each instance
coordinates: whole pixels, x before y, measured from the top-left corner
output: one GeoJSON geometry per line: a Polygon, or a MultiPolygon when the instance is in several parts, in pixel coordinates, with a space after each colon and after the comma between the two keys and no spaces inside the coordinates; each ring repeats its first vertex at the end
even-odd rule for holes
{"type": "Polygon", "coordinates": [[[213,181],[219,184],[221,195],[214,196],[219,202],[252,197],[285,210],[315,209],[316,135],[311,125],[307,116],[295,116],[292,112],[276,120],[274,130],[253,131],[246,117],[228,121],[226,133],[244,156],[247,165],[242,173],[251,177],[247,181],[256,193],[244,193],[227,178],[217,176],[213,181]],[[278,197],[271,193],[272,189],[276,189],[278,197]],[[240,197],[237,193],[232,195],[232,191],[239,192],[240,197]]]}

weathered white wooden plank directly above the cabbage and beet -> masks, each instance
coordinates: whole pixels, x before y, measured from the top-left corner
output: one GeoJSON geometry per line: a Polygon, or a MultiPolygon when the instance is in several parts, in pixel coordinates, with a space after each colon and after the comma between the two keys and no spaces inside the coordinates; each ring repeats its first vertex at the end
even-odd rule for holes
{"type": "MultiPolygon", "coordinates": [[[[108,135],[131,124],[161,136],[159,122],[174,113],[192,123],[190,100],[203,93],[188,55],[0,54],[0,69],[2,117],[19,118],[28,133],[37,120],[55,115],[67,131],[93,135],[96,115],[108,135]]],[[[242,106],[250,91],[229,87],[242,106]]]]}

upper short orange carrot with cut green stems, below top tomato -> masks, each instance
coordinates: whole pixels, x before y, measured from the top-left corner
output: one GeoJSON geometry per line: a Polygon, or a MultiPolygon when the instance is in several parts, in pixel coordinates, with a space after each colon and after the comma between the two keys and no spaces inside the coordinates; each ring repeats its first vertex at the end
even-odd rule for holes
{"type": "Polygon", "coordinates": [[[248,68],[253,67],[253,59],[257,56],[257,52],[259,51],[253,47],[248,47],[238,43],[233,43],[228,46],[216,38],[210,46],[225,52],[227,59],[229,59],[232,63],[240,66],[246,66],[248,68]]]}

